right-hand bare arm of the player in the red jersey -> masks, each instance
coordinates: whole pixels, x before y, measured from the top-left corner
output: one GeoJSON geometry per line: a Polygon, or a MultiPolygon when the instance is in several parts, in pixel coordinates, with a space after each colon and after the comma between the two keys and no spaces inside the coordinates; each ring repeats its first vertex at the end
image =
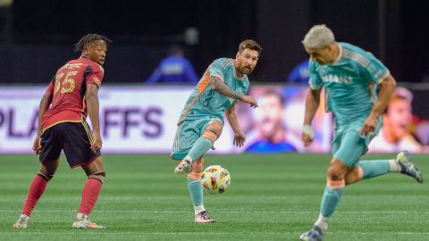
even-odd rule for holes
{"type": "Polygon", "coordinates": [[[101,149],[103,142],[100,135],[100,123],[99,123],[99,102],[98,102],[98,87],[96,84],[89,84],[85,93],[85,99],[87,102],[88,115],[91,119],[94,141],[91,144],[91,150],[97,152],[101,149]]]}

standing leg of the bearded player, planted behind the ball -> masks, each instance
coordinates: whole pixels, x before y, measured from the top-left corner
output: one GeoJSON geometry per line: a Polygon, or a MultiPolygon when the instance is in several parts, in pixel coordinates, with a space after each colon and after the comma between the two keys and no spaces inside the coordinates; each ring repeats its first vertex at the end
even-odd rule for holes
{"type": "Polygon", "coordinates": [[[203,185],[201,176],[204,170],[204,157],[200,157],[196,162],[192,162],[192,172],[188,174],[188,188],[192,204],[194,205],[194,215],[196,222],[214,222],[210,218],[203,204],[203,185]]]}

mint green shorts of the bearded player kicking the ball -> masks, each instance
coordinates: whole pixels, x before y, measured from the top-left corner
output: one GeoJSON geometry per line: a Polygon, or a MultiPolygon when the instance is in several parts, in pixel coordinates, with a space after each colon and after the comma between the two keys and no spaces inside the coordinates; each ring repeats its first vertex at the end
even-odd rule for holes
{"type": "Polygon", "coordinates": [[[219,120],[223,124],[223,120],[216,117],[203,117],[197,120],[183,120],[177,126],[174,142],[172,143],[172,159],[181,160],[189,153],[190,148],[195,144],[206,130],[208,122],[211,120],[219,120]]]}

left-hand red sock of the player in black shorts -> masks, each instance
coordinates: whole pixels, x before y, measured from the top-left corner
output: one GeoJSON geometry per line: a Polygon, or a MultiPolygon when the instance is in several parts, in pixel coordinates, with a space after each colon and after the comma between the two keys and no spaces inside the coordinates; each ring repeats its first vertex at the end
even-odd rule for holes
{"type": "Polygon", "coordinates": [[[38,199],[43,195],[46,185],[47,180],[45,178],[42,178],[39,174],[34,177],[33,181],[31,181],[31,184],[29,185],[29,193],[25,198],[21,214],[25,214],[27,216],[31,215],[34,207],[38,204],[38,199]]]}

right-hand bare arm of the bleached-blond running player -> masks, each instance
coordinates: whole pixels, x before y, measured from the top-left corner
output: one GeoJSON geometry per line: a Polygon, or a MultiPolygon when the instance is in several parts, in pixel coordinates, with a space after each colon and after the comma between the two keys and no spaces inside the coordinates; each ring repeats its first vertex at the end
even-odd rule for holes
{"type": "Polygon", "coordinates": [[[384,112],[384,109],[386,109],[387,104],[391,101],[391,95],[393,94],[393,91],[395,91],[395,87],[396,80],[391,75],[384,79],[380,84],[378,102],[374,105],[373,110],[365,120],[364,126],[361,129],[362,135],[375,131],[378,124],[378,118],[384,112]]]}

